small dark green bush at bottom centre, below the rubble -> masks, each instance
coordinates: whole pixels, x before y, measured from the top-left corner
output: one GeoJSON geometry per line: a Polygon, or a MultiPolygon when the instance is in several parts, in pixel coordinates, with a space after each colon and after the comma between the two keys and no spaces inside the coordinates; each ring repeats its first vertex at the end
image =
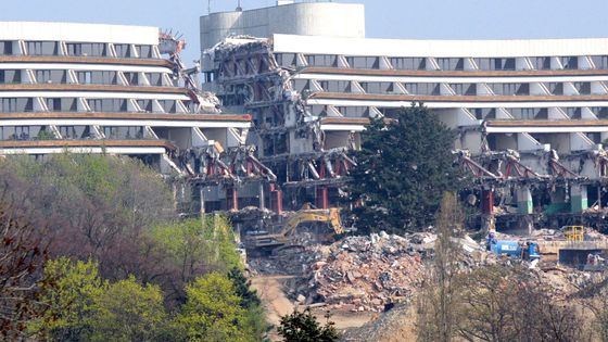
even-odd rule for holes
{"type": "Polygon", "coordinates": [[[278,331],[283,341],[287,342],[338,341],[338,331],[335,331],[333,322],[329,321],[329,314],[326,317],[328,321],[325,326],[321,326],[309,308],[302,313],[294,311],[291,315],[281,317],[278,331]]]}

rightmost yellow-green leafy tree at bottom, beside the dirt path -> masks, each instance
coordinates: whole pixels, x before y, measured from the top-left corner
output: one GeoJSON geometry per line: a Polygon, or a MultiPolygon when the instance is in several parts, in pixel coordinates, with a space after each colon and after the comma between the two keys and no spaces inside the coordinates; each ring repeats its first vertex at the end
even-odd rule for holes
{"type": "Polygon", "coordinates": [[[176,318],[176,331],[187,341],[251,341],[243,327],[245,311],[227,277],[211,273],[186,287],[188,300],[176,318]]]}

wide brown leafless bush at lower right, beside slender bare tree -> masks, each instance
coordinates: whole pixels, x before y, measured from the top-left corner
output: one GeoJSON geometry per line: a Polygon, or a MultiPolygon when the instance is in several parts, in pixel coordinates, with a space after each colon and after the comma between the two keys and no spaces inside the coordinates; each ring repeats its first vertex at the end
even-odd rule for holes
{"type": "Polygon", "coordinates": [[[519,265],[473,270],[463,281],[458,332],[467,341],[588,341],[575,308],[519,265]]]}

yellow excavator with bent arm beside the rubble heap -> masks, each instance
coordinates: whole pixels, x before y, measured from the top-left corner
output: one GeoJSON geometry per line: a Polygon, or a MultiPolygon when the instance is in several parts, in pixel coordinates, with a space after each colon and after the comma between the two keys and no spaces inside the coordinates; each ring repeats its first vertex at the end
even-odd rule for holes
{"type": "Polygon", "coordinates": [[[248,253],[275,253],[282,248],[293,246],[293,233],[300,224],[305,223],[329,223],[332,231],[320,236],[320,241],[328,241],[334,236],[344,233],[339,208],[319,210],[312,208],[309,204],[305,204],[302,210],[293,213],[288,218],[279,232],[254,231],[248,233],[244,241],[248,253]]]}

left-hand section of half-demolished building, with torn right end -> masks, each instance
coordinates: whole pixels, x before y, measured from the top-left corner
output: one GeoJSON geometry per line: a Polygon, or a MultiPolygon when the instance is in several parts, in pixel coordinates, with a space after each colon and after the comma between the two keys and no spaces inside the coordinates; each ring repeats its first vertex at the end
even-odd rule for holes
{"type": "Polygon", "coordinates": [[[198,195],[230,207],[235,183],[271,175],[251,166],[251,116],[221,113],[182,48],[156,27],[0,23],[0,155],[129,155],[198,190],[227,182],[198,195]]]}

